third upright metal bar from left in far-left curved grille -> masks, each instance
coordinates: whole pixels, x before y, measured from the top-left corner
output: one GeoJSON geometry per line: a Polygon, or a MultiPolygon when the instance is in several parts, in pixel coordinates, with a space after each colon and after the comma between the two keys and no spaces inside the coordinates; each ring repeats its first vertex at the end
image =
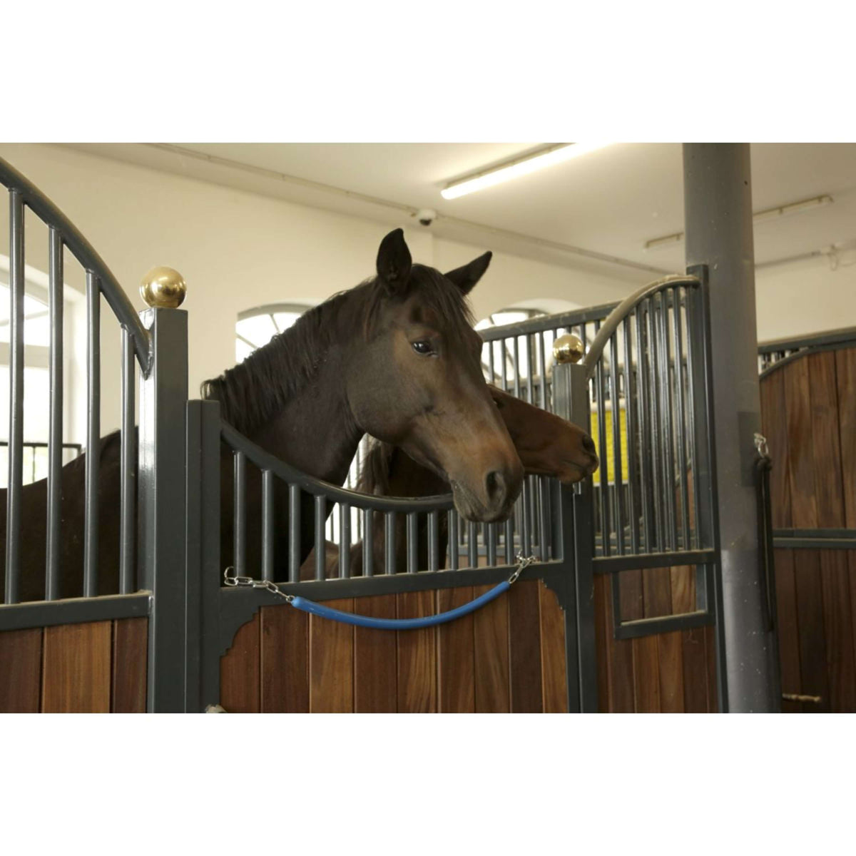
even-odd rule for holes
{"type": "Polygon", "coordinates": [[[86,271],[86,534],[83,595],[98,594],[98,464],[101,445],[101,293],[98,277],[86,271]]]}

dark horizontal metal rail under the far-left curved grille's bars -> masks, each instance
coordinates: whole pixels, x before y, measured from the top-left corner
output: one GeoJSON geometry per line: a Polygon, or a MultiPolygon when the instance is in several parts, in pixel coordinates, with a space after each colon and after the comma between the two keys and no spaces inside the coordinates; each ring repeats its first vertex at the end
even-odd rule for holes
{"type": "Polygon", "coordinates": [[[69,597],[67,600],[38,600],[32,603],[3,603],[0,604],[0,631],[139,618],[149,614],[151,603],[151,591],[102,597],[69,597]]]}

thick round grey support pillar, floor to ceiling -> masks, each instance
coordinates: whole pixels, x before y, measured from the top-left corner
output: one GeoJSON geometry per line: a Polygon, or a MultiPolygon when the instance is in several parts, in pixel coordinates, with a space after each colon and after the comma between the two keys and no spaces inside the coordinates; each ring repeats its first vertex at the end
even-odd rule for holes
{"type": "Polygon", "coordinates": [[[720,705],[732,712],[777,711],[778,663],[764,611],[753,475],[753,434],[761,429],[761,403],[749,146],[687,143],[683,156],[687,267],[708,265],[710,282],[722,550],[717,597],[720,705]]]}

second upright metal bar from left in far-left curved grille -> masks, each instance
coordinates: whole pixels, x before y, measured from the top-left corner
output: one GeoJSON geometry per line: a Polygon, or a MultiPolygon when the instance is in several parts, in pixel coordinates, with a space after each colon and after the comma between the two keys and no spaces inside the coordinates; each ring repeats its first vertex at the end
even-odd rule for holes
{"type": "MultiPolygon", "coordinates": [[[[51,228],[48,266],[48,324],[51,327],[50,412],[48,415],[48,532],[45,600],[59,597],[60,534],[62,528],[62,235],[51,228]]],[[[33,461],[36,450],[33,449],[33,461]]],[[[33,473],[33,476],[35,474],[33,473]]],[[[35,480],[35,479],[33,479],[35,480]]],[[[128,590],[122,589],[122,594],[128,590]]]]}

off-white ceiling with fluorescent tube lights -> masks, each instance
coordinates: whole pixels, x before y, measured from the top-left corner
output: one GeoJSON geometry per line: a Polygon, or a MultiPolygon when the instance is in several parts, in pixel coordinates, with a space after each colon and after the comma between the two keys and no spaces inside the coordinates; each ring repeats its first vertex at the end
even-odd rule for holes
{"type": "MultiPolygon", "coordinates": [[[[682,269],[682,245],[644,248],[645,241],[683,229],[679,144],[616,144],[461,199],[440,195],[449,181],[538,145],[75,147],[388,223],[432,208],[440,216],[431,229],[441,237],[613,276],[644,281],[650,270],[682,269]],[[627,265],[604,262],[602,256],[627,265]]],[[[856,145],[752,145],[756,211],[823,193],[833,197],[833,205],[756,224],[758,263],[856,239],[856,145]]]]}

